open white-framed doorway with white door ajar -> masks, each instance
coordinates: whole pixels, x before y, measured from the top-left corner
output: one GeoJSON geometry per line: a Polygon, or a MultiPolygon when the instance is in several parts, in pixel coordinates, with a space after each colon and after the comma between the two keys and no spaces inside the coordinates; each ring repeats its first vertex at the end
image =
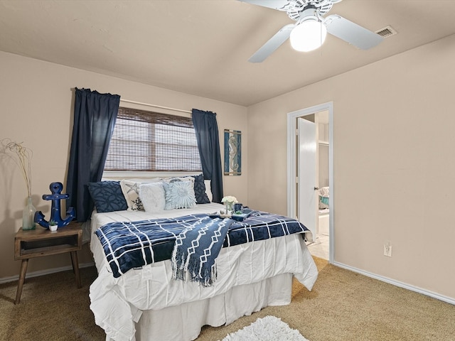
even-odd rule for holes
{"type": "Polygon", "coordinates": [[[311,231],[311,254],[333,263],[332,103],[288,114],[288,215],[311,231]]]}

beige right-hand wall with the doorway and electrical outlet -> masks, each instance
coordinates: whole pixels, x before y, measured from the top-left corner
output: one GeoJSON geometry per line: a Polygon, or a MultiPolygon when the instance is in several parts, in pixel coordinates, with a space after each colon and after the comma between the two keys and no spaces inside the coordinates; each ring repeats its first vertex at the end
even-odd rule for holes
{"type": "Polygon", "coordinates": [[[333,101],[335,261],[455,298],[454,60],[449,36],[250,107],[250,205],[287,212],[287,113],[333,101]]]}

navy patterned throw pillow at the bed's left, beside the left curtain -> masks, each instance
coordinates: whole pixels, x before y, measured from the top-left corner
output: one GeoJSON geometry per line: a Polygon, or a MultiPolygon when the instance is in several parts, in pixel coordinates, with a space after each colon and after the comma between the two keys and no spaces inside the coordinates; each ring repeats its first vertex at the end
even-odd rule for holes
{"type": "Polygon", "coordinates": [[[128,208],[118,181],[88,183],[88,190],[97,212],[124,211],[128,208]]]}

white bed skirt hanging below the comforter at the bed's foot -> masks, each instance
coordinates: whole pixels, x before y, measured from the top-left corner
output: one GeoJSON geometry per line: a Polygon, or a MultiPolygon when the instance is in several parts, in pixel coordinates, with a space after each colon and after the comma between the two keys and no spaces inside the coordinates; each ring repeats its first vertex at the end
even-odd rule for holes
{"type": "MultiPolygon", "coordinates": [[[[203,325],[228,325],[268,305],[288,305],[291,303],[291,288],[292,274],[281,274],[258,283],[235,286],[226,293],[202,301],[145,310],[136,324],[135,340],[196,340],[203,325]]],[[[109,337],[106,340],[112,341],[109,337]]]]}

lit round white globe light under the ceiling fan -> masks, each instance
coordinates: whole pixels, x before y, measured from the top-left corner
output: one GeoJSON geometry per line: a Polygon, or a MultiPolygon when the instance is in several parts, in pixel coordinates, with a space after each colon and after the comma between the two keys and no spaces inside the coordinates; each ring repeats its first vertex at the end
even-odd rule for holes
{"type": "Polygon", "coordinates": [[[309,52],[320,48],[326,40],[327,28],[316,18],[302,21],[291,31],[291,46],[294,50],[309,52]]]}

